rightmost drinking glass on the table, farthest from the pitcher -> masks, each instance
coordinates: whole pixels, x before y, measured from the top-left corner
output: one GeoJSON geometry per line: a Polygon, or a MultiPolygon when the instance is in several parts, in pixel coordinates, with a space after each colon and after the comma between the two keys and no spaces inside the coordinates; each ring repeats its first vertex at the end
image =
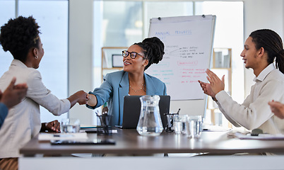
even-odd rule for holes
{"type": "Polygon", "coordinates": [[[187,136],[199,138],[202,132],[203,118],[201,115],[191,115],[187,118],[187,136]]]}

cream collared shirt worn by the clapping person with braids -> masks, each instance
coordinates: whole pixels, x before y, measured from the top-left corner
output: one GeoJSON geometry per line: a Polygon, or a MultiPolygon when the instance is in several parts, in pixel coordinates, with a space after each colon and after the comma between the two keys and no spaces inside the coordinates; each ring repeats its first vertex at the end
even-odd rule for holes
{"type": "Polygon", "coordinates": [[[235,126],[284,134],[284,120],[273,115],[268,106],[268,101],[272,100],[284,103],[284,74],[269,64],[254,81],[256,83],[242,104],[233,101],[225,91],[216,94],[220,111],[235,126]]]}

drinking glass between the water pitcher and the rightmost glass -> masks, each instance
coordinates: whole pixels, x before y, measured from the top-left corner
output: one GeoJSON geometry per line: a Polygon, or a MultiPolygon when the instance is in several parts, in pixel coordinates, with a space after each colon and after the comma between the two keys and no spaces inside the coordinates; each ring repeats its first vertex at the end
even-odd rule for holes
{"type": "Polygon", "coordinates": [[[177,135],[187,133],[187,117],[188,115],[174,115],[174,132],[177,135]]]}

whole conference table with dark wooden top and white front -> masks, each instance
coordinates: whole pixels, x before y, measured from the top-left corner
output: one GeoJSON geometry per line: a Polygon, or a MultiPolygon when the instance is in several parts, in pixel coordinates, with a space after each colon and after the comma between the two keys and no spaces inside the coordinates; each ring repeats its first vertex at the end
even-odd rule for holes
{"type": "MultiPolygon", "coordinates": [[[[220,166],[217,162],[235,162],[239,161],[244,162],[243,164],[239,164],[238,166],[246,166],[249,167],[257,167],[258,169],[264,169],[263,164],[267,162],[272,162],[275,167],[273,169],[280,169],[284,167],[283,156],[271,157],[261,156],[254,157],[232,157],[232,154],[239,153],[264,153],[264,152],[272,152],[276,154],[284,153],[284,141],[283,140],[239,140],[238,138],[228,135],[229,131],[225,132],[210,132],[203,131],[201,136],[198,139],[191,139],[186,135],[176,135],[174,132],[162,132],[161,135],[150,137],[150,136],[141,136],[138,134],[136,130],[133,129],[117,129],[117,133],[113,133],[112,135],[97,135],[95,133],[88,133],[88,138],[90,140],[93,139],[112,139],[116,143],[115,145],[51,145],[50,142],[42,142],[37,139],[37,137],[32,138],[30,142],[28,142],[23,148],[20,149],[20,154],[23,154],[20,160],[20,166],[23,166],[22,169],[30,169],[30,162],[35,162],[35,159],[40,160],[40,164],[43,163],[44,160],[47,160],[47,167],[50,162],[52,164],[56,164],[56,160],[60,160],[60,162],[69,162],[68,164],[72,164],[73,162],[82,162],[83,159],[74,159],[74,157],[69,157],[66,155],[72,154],[81,154],[81,153],[89,153],[89,154],[110,154],[116,155],[112,157],[93,157],[84,160],[90,160],[90,162],[85,162],[88,166],[93,166],[94,162],[116,162],[119,160],[122,162],[129,162],[132,160],[132,163],[141,162],[141,160],[146,160],[146,162],[162,162],[160,164],[167,164],[169,162],[169,158],[165,157],[152,157],[150,155],[155,154],[189,154],[189,153],[198,153],[203,155],[218,155],[214,157],[202,157],[196,156],[194,159],[189,159],[189,157],[180,158],[174,157],[170,159],[172,162],[179,162],[179,165],[187,166],[190,164],[189,162],[211,162],[209,163],[208,169],[212,169],[212,166],[216,166],[218,169],[228,169],[228,166],[220,166]],[[49,155],[49,156],[57,156],[55,157],[40,157],[38,158],[38,154],[49,155]],[[118,157],[119,155],[127,155],[126,157],[118,157]],[[145,157],[147,155],[148,157],[145,157]],[[227,155],[227,157],[222,157],[220,155],[227,155]],[[229,156],[230,155],[230,156],[229,156]],[[64,157],[58,157],[64,156],[64,157]],[[136,156],[136,157],[134,157],[136,156]],[[144,157],[141,157],[144,156],[144,157]],[[222,158],[220,158],[222,157],[222,158]],[[196,159],[198,158],[198,159],[196,159]],[[185,159],[185,160],[184,160],[185,159]],[[247,162],[248,160],[252,160],[259,162],[258,166],[247,162]],[[264,159],[264,160],[262,160],[264,159]],[[69,161],[67,161],[69,160],[69,161]],[[70,162],[70,160],[73,160],[70,162]],[[154,161],[155,160],[155,161],[154,161]],[[184,160],[183,162],[180,162],[184,160]],[[215,160],[215,161],[213,161],[215,160]],[[50,161],[50,162],[49,162],[50,161]],[[49,162],[49,163],[48,163],[49,162]],[[247,164],[245,163],[247,162],[247,164]],[[210,165],[210,166],[209,166],[210,165]],[[29,167],[29,168],[28,168],[29,167]]],[[[128,163],[129,164],[129,163],[128,163]]],[[[153,163],[154,164],[154,163],[153,163]]],[[[201,163],[199,163],[201,164],[201,163]]],[[[134,164],[135,165],[135,164],[134,164]]],[[[111,165],[110,165],[111,166],[111,165]]],[[[145,164],[143,166],[148,166],[145,164]]],[[[191,164],[192,166],[192,164],[191,164]]],[[[203,164],[206,166],[206,164],[203,164]]],[[[71,166],[75,169],[75,165],[71,166]]],[[[117,166],[114,166],[117,169],[117,166]]],[[[122,166],[123,169],[133,169],[133,166],[122,166]]],[[[234,166],[235,167],[235,166],[234,166]]],[[[271,166],[268,168],[270,169],[271,166]]],[[[136,169],[139,169],[136,167],[136,169]]],[[[143,167],[145,169],[145,167],[143,167]]],[[[203,167],[203,169],[206,169],[203,167]]]]}

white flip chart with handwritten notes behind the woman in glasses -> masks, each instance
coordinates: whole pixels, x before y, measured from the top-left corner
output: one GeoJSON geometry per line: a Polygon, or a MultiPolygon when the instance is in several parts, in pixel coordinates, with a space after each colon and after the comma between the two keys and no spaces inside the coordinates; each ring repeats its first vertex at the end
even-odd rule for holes
{"type": "Polygon", "coordinates": [[[194,115],[205,112],[206,96],[198,80],[206,81],[205,71],[210,67],[215,18],[203,15],[150,19],[149,37],[164,42],[165,55],[146,73],[166,84],[171,112],[178,108],[181,113],[195,108],[194,115]]]}

